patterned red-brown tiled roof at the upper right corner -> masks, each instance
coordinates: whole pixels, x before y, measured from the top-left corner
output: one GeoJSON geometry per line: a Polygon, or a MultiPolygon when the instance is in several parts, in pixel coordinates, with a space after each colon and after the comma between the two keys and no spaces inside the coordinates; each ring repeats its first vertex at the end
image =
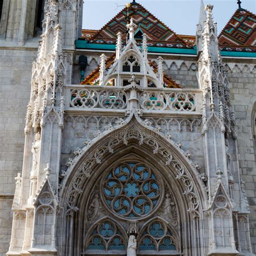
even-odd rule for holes
{"type": "Polygon", "coordinates": [[[238,9],[219,35],[221,51],[256,51],[256,15],[238,9]]]}

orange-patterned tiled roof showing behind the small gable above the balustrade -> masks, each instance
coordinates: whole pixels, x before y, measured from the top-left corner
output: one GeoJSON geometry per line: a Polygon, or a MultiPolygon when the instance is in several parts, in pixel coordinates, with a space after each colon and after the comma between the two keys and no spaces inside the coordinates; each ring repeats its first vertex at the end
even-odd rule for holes
{"type": "MultiPolygon", "coordinates": [[[[106,59],[105,65],[106,70],[109,70],[110,66],[114,63],[116,58],[116,53],[113,53],[109,58],[106,59]]],[[[149,60],[149,65],[153,67],[155,73],[157,73],[157,65],[149,60]]],[[[164,83],[167,88],[181,88],[179,84],[174,82],[172,78],[164,74],[164,83]]],[[[82,83],[84,85],[99,85],[99,66],[96,70],[92,71],[89,76],[87,76],[82,83]]]]}

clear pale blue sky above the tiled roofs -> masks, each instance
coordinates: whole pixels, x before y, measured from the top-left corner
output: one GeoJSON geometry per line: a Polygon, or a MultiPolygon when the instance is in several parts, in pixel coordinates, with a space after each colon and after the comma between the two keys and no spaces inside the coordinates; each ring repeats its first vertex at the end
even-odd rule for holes
{"type": "MultiPolygon", "coordinates": [[[[132,0],[84,0],[83,29],[100,29],[125,5],[132,0]]],[[[136,0],[154,16],[164,22],[174,32],[183,35],[195,35],[198,23],[200,0],[136,0]]],[[[255,14],[256,0],[241,0],[242,8],[255,14]]],[[[214,19],[218,24],[218,33],[224,28],[235,10],[237,0],[204,0],[213,4],[214,19]]]]}

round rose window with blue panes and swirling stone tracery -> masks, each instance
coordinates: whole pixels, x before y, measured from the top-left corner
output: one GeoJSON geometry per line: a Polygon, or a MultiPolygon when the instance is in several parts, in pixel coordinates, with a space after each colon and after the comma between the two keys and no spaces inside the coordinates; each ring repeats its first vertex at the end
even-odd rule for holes
{"type": "Polygon", "coordinates": [[[156,210],[163,198],[161,178],[144,164],[123,163],[102,180],[107,207],[119,217],[142,218],[156,210]]]}

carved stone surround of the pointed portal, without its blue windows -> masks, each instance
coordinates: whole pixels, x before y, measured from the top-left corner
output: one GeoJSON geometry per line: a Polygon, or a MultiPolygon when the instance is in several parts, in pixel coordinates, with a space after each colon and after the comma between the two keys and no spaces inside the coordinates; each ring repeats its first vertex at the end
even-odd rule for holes
{"type": "MultiPolygon", "coordinates": [[[[104,136],[97,143],[92,144],[71,168],[69,177],[63,184],[64,189],[60,198],[63,212],[58,218],[57,227],[62,229],[60,233],[66,234],[66,237],[59,238],[62,240],[60,243],[62,254],[60,255],[79,255],[80,253],[86,255],[83,251],[83,238],[98,218],[108,216],[117,220],[127,231],[129,219],[111,212],[102,196],[104,175],[107,175],[106,172],[122,161],[126,163],[135,161],[148,166],[154,170],[156,177],[159,177],[158,180],[163,180],[164,183],[161,185],[164,191],[162,191],[159,205],[143,218],[130,219],[131,221],[137,220],[138,232],[142,231],[142,226],[146,221],[161,215],[168,225],[176,230],[175,239],[181,241],[181,245],[178,246],[179,254],[199,255],[203,253],[202,209],[205,207],[206,200],[203,199],[204,192],[201,184],[198,183],[194,171],[188,170],[189,161],[181,156],[177,147],[175,148],[171,143],[168,145],[163,137],[145,129],[133,118],[123,129],[112,131],[111,136],[104,136]],[[170,218],[168,211],[164,210],[168,202],[166,199],[169,197],[176,206],[176,221],[170,218]],[[93,203],[95,198],[99,198],[98,203],[93,203]],[[101,209],[100,213],[92,211],[95,205],[101,209]],[[98,214],[95,219],[90,219],[92,212],[98,214]],[[88,217],[90,220],[87,219],[88,217]],[[193,240],[187,239],[190,233],[195,234],[193,240]],[[193,250],[199,251],[193,252],[193,250]]],[[[154,252],[152,253],[154,255],[154,252]]]]}

